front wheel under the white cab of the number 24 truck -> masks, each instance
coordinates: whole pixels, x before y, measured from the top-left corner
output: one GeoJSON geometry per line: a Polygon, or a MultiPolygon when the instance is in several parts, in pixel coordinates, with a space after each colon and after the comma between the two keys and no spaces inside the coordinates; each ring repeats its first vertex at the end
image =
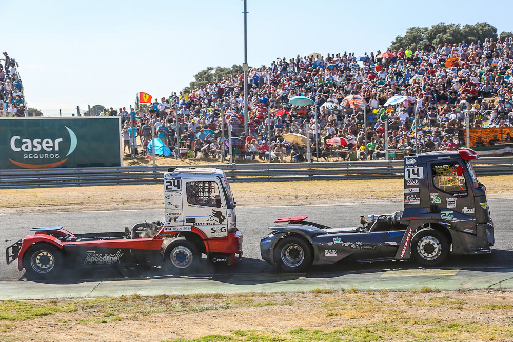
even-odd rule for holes
{"type": "Polygon", "coordinates": [[[200,266],[201,252],[185,237],[176,237],[164,251],[164,263],[178,271],[192,271],[200,266]]]}

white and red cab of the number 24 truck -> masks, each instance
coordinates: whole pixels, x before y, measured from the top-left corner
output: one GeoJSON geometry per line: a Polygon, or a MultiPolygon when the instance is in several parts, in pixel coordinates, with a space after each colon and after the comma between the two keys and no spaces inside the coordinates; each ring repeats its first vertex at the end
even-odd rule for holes
{"type": "Polygon", "coordinates": [[[169,169],[164,200],[165,223],[159,236],[188,236],[214,263],[241,260],[243,237],[236,225],[236,203],[222,170],[169,169]]]}

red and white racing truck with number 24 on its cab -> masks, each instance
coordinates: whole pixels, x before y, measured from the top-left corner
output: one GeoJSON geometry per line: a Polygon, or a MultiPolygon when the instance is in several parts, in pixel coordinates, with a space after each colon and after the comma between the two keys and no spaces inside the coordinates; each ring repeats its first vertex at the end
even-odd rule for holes
{"type": "Polygon", "coordinates": [[[165,223],[139,223],[122,232],[73,234],[63,226],[36,227],[7,247],[7,264],[18,260],[26,276],[52,278],[76,266],[200,266],[242,258],[242,233],[226,176],[214,168],[169,169],[164,177],[165,223]]]}

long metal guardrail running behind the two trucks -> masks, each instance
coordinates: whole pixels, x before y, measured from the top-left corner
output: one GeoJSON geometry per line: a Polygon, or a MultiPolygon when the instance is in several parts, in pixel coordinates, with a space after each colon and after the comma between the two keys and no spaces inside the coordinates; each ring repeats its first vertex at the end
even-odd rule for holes
{"type": "MultiPolygon", "coordinates": [[[[478,176],[513,174],[513,157],[480,158],[472,165],[478,176]]],[[[0,170],[0,189],[162,184],[169,167],[219,168],[230,182],[402,178],[404,173],[403,160],[0,170]]]]}

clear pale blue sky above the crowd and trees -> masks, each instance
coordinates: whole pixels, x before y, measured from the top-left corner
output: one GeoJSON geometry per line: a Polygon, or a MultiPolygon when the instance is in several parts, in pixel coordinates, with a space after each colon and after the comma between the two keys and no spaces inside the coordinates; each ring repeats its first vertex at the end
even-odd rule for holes
{"type": "MultiPolygon", "coordinates": [[[[29,107],[129,107],[169,96],[208,66],[244,61],[243,1],[0,0],[0,49],[19,63],[29,107]]],[[[488,22],[513,31],[508,1],[248,0],[248,63],[385,50],[411,26],[488,22]]],[[[76,109],[75,109],[76,111],[76,109]]]]}

